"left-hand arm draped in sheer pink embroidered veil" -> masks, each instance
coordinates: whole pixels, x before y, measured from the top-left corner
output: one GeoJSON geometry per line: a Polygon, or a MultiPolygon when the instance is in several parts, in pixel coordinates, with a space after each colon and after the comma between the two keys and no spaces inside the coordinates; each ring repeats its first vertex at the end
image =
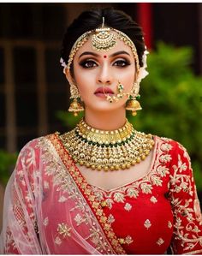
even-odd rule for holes
{"type": "Polygon", "coordinates": [[[40,254],[35,197],[37,154],[35,141],[25,146],[6,188],[3,206],[2,249],[5,254],[40,254]]]}

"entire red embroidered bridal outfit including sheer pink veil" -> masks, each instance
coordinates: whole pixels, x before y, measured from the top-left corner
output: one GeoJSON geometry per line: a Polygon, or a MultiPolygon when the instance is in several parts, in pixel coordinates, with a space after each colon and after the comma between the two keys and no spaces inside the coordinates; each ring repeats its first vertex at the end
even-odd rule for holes
{"type": "Polygon", "coordinates": [[[104,191],[88,184],[58,134],[30,141],[6,189],[1,253],[202,253],[190,159],[155,136],[146,176],[104,191]]]}

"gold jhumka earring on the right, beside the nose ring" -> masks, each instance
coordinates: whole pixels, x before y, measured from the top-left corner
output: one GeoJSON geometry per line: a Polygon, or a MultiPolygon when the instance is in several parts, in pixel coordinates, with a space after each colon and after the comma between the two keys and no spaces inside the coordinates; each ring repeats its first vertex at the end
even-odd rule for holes
{"type": "Polygon", "coordinates": [[[136,92],[137,87],[138,87],[137,83],[134,83],[132,92],[130,93],[128,97],[128,102],[126,104],[126,110],[132,111],[132,116],[137,115],[137,112],[136,112],[137,110],[142,110],[140,106],[140,102],[138,101],[138,99],[140,99],[140,94],[137,94],[136,92]]]}

